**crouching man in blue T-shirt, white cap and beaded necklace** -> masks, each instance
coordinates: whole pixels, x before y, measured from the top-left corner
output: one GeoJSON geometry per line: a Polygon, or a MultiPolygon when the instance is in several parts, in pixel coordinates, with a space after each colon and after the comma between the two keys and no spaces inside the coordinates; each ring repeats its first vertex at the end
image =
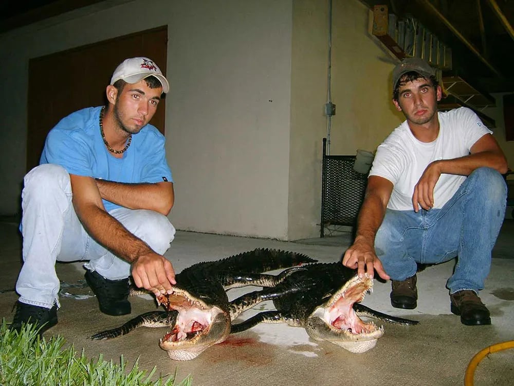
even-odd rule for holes
{"type": "Polygon", "coordinates": [[[128,276],[156,295],[175,272],[164,252],[175,229],[164,136],[148,122],[168,80],[148,58],[130,58],[106,88],[107,104],[63,118],[48,134],[40,166],[24,179],[24,264],[12,329],[57,324],[56,261],[88,260],[85,279],[100,310],[131,312],[128,276]]]}

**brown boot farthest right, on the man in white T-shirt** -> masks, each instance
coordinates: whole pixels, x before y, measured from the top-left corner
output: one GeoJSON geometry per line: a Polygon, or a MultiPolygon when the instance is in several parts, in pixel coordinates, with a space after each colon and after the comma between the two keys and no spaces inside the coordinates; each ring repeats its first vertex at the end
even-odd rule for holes
{"type": "Polygon", "coordinates": [[[450,295],[450,310],[461,315],[461,323],[466,326],[491,324],[489,310],[480,297],[472,290],[461,290],[450,295]]]}

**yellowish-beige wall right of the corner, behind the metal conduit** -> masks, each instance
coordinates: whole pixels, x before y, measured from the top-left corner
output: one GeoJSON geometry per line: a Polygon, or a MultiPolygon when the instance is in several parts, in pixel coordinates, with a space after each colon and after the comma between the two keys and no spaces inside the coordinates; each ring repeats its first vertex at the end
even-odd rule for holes
{"type": "MultiPolygon", "coordinates": [[[[370,10],[333,1],[331,154],[375,150],[402,117],[391,102],[394,59],[370,36],[370,10]]],[[[322,138],[327,137],[328,0],[293,2],[289,238],[319,235],[322,138]]]]}

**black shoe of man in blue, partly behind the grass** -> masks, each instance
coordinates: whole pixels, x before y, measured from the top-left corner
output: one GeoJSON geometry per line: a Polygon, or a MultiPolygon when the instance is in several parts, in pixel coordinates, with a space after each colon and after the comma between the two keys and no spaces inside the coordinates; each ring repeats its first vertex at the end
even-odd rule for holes
{"type": "Polygon", "coordinates": [[[20,332],[22,325],[28,323],[39,328],[41,337],[43,332],[57,324],[57,305],[45,308],[17,301],[16,312],[9,329],[20,332]]]}

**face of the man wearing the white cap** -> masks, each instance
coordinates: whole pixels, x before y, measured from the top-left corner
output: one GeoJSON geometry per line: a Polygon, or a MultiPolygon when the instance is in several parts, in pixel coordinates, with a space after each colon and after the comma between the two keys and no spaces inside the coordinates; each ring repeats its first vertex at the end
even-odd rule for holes
{"type": "Polygon", "coordinates": [[[125,84],[116,96],[113,110],[119,128],[130,134],[139,133],[157,111],[161,94],[162,87],[151,89],[144,79],[125,84]]]}

